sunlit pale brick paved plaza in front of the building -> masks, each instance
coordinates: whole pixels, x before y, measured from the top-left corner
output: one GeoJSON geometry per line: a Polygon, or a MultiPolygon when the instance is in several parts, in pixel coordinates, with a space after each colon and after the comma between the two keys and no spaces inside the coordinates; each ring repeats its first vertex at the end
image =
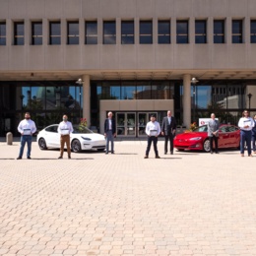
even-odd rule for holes
{"type": "Polygon", "coordinates": [[[256,255],[256,158],[19,147],[0,143],[0,255],[256,255]]]}

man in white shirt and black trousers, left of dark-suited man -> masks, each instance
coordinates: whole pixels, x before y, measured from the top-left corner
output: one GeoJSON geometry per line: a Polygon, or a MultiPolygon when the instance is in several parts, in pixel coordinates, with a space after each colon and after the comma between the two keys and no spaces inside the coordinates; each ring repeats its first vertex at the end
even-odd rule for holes
{"type": "Polygon", "coordinates": [[[158,137],[160,135],[160,123],[156,121],[156,116],[151,115],[151,121],[147,123],[146,134],[148,135],[148,147],[144,159],[149,159],[149,153],[153,142],[156,159],[160,159],[158,152],[158,137]]]}

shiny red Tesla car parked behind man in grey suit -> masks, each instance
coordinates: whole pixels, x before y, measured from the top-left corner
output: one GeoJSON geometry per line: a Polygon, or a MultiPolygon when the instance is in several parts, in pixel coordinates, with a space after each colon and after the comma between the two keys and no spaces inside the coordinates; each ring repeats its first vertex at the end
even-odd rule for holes
{"type": "MultiPolygon", "coordinates": [[[[198,127],[193,132],[178,134],[174,138],[174,148],[178,151],[210,152],[210,140],[207,125],[198,127]]],[[[240,130],[234,125],[222,124],[219,128],[219,149],[239,148],[240,130]]]]}

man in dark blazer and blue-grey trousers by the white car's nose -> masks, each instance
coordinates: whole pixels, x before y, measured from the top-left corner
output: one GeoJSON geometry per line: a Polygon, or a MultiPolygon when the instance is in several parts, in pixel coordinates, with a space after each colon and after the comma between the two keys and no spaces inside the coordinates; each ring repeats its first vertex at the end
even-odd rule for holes
{"type": "Polygon", "coordinates": [[[114,154],[115,121],[112,112],[108,112],[108,118],[104,122],[104,137],[106,139],[105,154],[108,154],[109,142],[111,142],[111,154],[114,154]]]}

